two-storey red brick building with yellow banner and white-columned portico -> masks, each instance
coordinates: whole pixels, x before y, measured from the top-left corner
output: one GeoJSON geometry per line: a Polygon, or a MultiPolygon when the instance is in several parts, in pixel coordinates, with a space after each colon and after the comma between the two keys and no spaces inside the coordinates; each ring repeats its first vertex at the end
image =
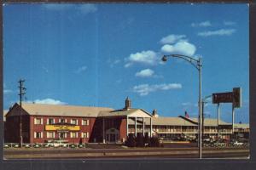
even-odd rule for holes
{"type": "Polygon", "coordinates": [[[23,143],[46,143],[56,139],[68,143],[124,142],[129,119],[151,119],[146,111],[131,109],[129,99],[125,100],[125,108],[118,111],[103,107],[27,103],[22,104],[20,110],[20,105],[15,104],[6,115],[5,142],[20,141],[20,115],[23,143]]]}

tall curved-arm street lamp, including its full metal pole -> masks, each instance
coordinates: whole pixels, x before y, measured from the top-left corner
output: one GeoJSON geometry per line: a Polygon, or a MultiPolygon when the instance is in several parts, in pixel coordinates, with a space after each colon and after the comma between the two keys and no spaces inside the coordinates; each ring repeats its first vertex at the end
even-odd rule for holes
{"type": "Polygon", "coordinates": [[[195,59],[186,55],[182,54],[169,54],[169,55],[164,55],[162,57],[162,61],[166,62],[168,57],[174,57],[174,58],[180,58],[180,59],[185,59],[188,61],[191,65],[195,66],[197,71],[199,72],[199,99],[198,99],[198,109],[199,109],[199,122],[198,122],[198,127],[199,127],[199,134],[198,134],[198,141],[199,141],[199,158],[201,159],[201,146],[202,146],[202,140],[201,140],[201,132],[202,132],[202,111],[201,111],[201,58],[195,59]]]}

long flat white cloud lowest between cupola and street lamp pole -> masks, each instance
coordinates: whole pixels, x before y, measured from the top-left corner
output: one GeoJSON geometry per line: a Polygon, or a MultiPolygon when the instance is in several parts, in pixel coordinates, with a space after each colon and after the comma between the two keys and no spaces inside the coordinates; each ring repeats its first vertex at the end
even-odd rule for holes
{"type": "Polygon", "coordinates": [[[132,88],[134,93],[139,94],[140,96],[148,95],[151,92],[160,91],[160,90],[171,90],[171,89],[180,89],[182,85],[179,83],[169,83],[169,84],[141,84],[132,88]]]}

